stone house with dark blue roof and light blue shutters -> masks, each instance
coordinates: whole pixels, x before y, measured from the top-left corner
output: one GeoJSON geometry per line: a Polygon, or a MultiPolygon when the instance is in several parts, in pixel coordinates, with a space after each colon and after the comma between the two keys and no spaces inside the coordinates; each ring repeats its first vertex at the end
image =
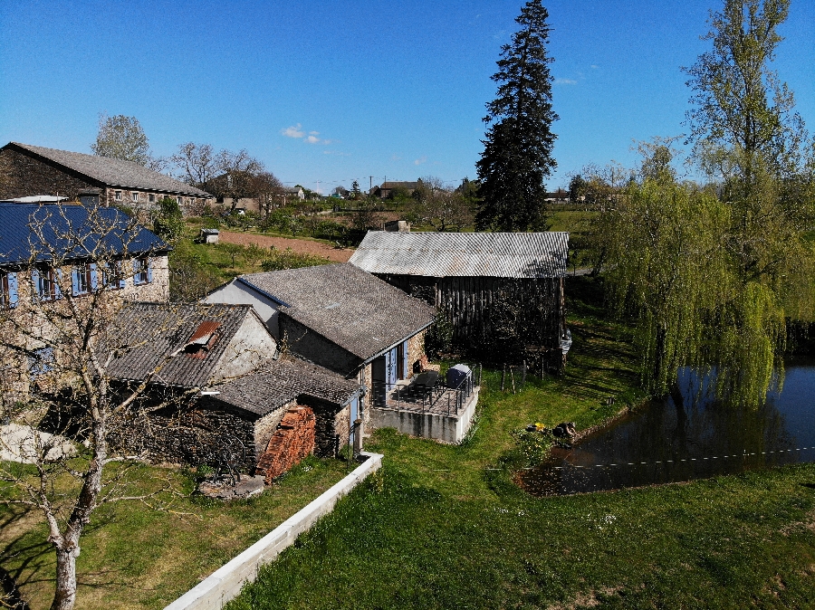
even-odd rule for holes
{"type": "Polygon", "coordinates": [[[25,401],[61,357],[53,316],[90,307],[101,292],[168,300],[170,247],[115,208],[0,204],[0,385],[25,401]],[[52,319],[52,321],[49,321],[52,319]]]}

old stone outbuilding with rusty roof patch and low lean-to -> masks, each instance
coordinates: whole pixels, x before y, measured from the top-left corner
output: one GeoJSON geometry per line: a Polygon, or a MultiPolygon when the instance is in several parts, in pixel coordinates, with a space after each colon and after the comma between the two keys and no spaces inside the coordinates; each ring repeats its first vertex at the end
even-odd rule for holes
{"type": "Polygon", "coordinates": [[[291,465],[269,450],[281,453],[271,441],[297,409],[310,414],[298,431],[306,441],[299,443],[300,457],[315,450],[334,455],[348,442],[360,386],[299,358],[279,357],[276,340],[249,305],[133,302],[114,327],[110,378],[121,393],[147,384],[137,415],[115,439],[122,449],[155,462],[192,464],[228,450],[244,472],[261,461],[291,465]]]}

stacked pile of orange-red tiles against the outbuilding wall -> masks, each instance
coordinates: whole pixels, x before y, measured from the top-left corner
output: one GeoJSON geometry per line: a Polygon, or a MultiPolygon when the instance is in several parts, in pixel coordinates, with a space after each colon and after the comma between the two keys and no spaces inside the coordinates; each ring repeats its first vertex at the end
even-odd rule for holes
{"type": "Polygon", "coordinates": [[[314,452],[314,412],[307,406],[294,406],[283,420],[260,456],[255,474],[263,475],[270,484],[283,472],[314,452]]]}

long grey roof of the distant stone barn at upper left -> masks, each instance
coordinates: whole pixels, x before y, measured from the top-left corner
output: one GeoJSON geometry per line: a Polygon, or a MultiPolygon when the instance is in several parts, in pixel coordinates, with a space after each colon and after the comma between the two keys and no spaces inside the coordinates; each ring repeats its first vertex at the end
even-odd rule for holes
{"type": "Polygon", "coordinates": [[[68,150],[57,150],[56,148],[43,148],[20,142],[9,142],[3,148],[7,147],[22,148],[38,157],[49,159],[62,167],[68,167],[75,172],[79,172],[82,176],[88,176],[108,186],[159,191],[173,195],[212,196],[195,186],[189,186],[180,180],[154,172],[152,169],[140,166],[132,161],[85,155],[68,150]]]}

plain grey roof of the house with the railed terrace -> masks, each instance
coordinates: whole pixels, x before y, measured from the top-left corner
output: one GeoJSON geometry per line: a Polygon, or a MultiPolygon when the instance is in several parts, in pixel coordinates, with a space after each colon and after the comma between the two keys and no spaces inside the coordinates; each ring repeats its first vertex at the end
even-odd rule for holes
{"type": "Polygon", "coordinates": [[[436,310],[347,262],[238,278],[363,360],[427,327],[436,310]]]}

